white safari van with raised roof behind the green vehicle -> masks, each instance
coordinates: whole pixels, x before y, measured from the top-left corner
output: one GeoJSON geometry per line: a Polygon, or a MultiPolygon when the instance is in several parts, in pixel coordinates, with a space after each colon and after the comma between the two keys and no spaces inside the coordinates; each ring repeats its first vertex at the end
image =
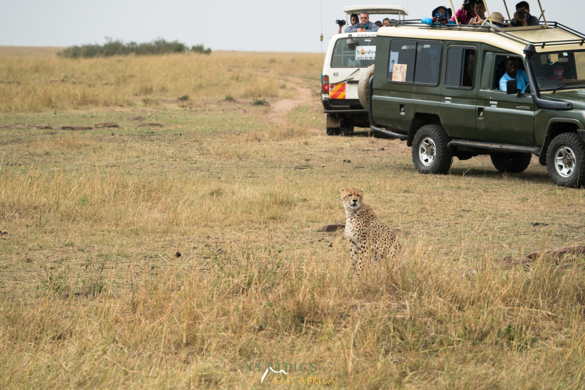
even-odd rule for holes
{"type": "MultiPolygon", "coordinates": [[[[343,7],[346,27],[353,13],[367,12],[370,22],[374,15],[408,15],[399,5],[360,5],[343,7]]],[[[327,134],[351,134],[353,127],[370,127],[366,109],[357,97],[357,85],[362,73],[374,64],[376,58],[376,33],[342,33],[331,37],[323,73],[321,73],[321,101],[327,114],[327,134]]]]}

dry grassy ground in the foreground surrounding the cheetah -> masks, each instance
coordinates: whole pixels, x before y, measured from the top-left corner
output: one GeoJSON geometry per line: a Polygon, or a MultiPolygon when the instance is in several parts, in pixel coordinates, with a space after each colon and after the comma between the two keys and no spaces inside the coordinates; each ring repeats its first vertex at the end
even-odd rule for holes
{"type": "Polygon", "coordinates": [[[496,260],[583,244],[582,192],[485,156],[419,175],[318,104],[2,115],[121,127],[0,133],[0,388],[585,385],[583,257],[496,260]],[[362,278],[320,230],[347,186],[405,247],[362,278]]]}

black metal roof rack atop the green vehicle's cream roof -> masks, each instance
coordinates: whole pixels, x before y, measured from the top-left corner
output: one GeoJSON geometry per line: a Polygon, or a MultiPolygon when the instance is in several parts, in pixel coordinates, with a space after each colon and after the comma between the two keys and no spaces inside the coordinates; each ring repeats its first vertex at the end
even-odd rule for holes
{"type": "Polygon", "coordinates": [[[559,22],[540,22],[538,26],[529,27],[507,27],[497,29],[492,26],[472,26],[472,25],[426,25],[419,19],[407,19],[407,20],[390,20],[391,25],[394,27],[399,26],[411,26],[419,27],[424,29],[449,29],[449,30],[463,30],[466,32],[484,32],[484,33],[495,33],[507,37],[508,39],[514,40],[522,44],[534,44],[544,48],[545,46],[558,46],[565,44],[579,44],[583,46],[585,43],[585,34],[578,32],[571,27],[567,27],[559,22]],[[550,31],[549,34],[543,34],[542,32],[550,31]],[[531,32],[538,32],[532,34],[531,32]],[[560,33],[562,32],[562,33],[560,33]],[[531,35],[541,39],[545,37],[546,40],[534,40],[531,35]]]}

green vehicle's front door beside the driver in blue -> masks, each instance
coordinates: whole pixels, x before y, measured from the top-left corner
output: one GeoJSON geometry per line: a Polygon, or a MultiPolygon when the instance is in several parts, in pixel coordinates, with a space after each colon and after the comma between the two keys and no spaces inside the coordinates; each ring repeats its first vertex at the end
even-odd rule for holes
{"type": "MultiPolygon", "coordinates": [[[[499,89],[505,73],[507,57],[518,57],[524,67],[524,58],[517,54],[484,53],[485,68],[480,90],[483,119],[478,120],[480,139],[498,143],[534,145],[535,106],[530,94],[508,95],[499,89]]],[[[519,68],[522,68],[519,67],[519,68]]],[[[525,69],[525,67],[524,67],[525,69]]]]}

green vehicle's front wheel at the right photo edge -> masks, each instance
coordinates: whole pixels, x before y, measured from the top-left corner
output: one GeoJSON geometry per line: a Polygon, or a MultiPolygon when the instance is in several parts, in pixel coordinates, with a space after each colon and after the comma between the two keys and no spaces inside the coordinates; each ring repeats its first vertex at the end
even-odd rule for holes
{"type": "Polygon", "coordinates": [[[556,185],[583,187],[585,185],[585,141],[583,138],[577,133],[563,133],[553,138],[546,151],[546,169],[549,171],[550,180],[556,185]],[[567,153],[569,151],[570,153],[567,153]]]}

